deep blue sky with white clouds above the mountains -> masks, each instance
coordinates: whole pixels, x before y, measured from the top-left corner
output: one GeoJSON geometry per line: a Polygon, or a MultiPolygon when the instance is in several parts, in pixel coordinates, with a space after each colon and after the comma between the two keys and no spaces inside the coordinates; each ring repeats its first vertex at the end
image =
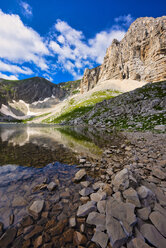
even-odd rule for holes
{"type": "Polygon", "coordinates": [[[0,0],[0,78],[80,79],[135,19],[163,15],[165,0],[0,0]]]}

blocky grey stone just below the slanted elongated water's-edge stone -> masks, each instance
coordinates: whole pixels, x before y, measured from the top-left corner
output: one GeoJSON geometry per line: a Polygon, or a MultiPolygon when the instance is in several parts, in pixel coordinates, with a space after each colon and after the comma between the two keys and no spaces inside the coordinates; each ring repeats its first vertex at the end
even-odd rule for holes
{"type": "Polygon", "coordinates": [[[105,226],[105,215],[97,212],[91,212],[88,215],[86,223],[89,225],[102,225],[105,226]]]}

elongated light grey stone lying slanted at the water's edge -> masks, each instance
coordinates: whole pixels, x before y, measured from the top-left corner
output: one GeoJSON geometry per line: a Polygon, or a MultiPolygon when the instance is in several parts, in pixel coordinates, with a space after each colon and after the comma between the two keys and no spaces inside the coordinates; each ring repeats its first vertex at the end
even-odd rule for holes
{"type": "Polygon", "coordinates": [[[96,203],[94,201],[89,201],[86,204],[79,206],[77,211],[78,217],[87,216],[90,212],[96,211],[96,203]]]}

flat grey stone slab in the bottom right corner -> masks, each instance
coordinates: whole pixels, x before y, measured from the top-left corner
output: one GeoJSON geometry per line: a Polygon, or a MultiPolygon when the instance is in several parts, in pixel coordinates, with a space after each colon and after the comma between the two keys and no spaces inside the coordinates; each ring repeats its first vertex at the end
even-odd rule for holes
{"type": "Polygon", "coordinates": [[[157,248],[165,248],[166,239],[159,233],[159,231],[151,224],[144,224],[141,226],[140,232],[144,238],[157,248]]]}

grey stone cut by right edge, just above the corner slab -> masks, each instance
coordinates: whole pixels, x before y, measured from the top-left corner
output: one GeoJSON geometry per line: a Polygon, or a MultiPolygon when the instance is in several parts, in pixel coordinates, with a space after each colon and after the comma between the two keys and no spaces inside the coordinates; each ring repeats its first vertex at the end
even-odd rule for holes
{"type": "Polygon", "coordinates": [[[166,217],[158,211],[154,211],[150,214],[149,219],[158,231],[166,237],[166,217]]]}

